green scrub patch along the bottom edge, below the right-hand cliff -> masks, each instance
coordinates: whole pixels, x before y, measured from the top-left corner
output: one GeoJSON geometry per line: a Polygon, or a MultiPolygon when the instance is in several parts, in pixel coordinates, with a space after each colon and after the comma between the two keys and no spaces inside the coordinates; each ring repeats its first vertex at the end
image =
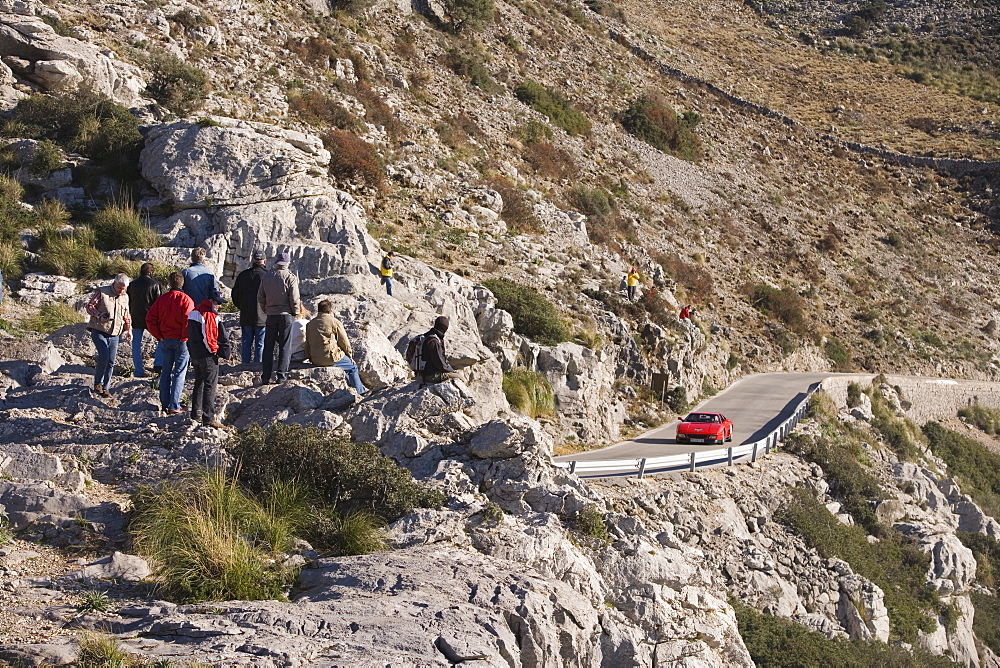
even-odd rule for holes
{"type": "Polygon", "coordinates": [[[906,650],[877,641],[831,639],[738,601],[731,600],[730,604],[736,612],[740,636],[758,666],[945,668],[955,665],[918,647],[906,650]]]}

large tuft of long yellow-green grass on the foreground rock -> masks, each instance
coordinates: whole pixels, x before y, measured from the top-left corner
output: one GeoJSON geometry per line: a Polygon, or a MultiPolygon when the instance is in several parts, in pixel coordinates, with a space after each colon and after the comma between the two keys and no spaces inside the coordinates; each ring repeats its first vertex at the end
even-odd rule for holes
{"type": "Polygon", "coordinates": [[[282,515],[221,470],[201,470],[133,496],[132,543],[176,601],[281,599],[295,573],[274,557],[306,515],[282,515]]]}

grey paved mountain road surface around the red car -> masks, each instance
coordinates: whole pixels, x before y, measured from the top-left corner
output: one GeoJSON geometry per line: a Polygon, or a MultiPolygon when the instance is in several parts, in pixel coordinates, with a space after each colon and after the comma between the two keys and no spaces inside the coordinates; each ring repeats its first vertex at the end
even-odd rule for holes
{"type": "MultiPolygon", "coordinates": [[[[788,418],[813,385],[831,375],[834,374],[767,373],[747,376],[701,404],[698,410],[722,413],[733,421],[731,445],[753,443],[788,418]]],[[[676,426],[675,420],[628,441],[601,450],[557,457],[556,461],[635,460],[725,447],[721,443],[678,444],[674,440],[676,426]]]]}

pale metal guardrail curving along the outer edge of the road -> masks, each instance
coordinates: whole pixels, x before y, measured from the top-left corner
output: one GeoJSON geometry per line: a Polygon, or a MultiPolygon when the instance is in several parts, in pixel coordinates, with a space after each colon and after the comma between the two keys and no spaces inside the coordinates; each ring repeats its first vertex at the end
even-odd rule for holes
{"type": "Polygon", "coordinates": [[[716,466],[725,464],[733,466],[744,461],[756,462],[764,455],[771,453],[771,449],[777,447],[778,443],[785,440],[795,426],[802,419],[806,412],[809,400],[816,392],[823,389],[822,383],[817,383],[810,388],[805,398],[799,402],[791,416],[774,428],[764,438],[753,443],[744,443],[735,447],[716,448],[714,450],[703,450],[701,452],[682,453],[679,455],[667,455],[666,457],[643,457],[642,459],[609,459],[605,461],[584,462],[570,461],[558,463],[557,466],[568,468],[570,473],[587,477],[601,478],[621,475],[637,475],[642,478],[650,473],[666,473],[669,471],[694,471],[699,466],[716,466]],[[628,464],[628,462],[635,462],[628,464]]]}

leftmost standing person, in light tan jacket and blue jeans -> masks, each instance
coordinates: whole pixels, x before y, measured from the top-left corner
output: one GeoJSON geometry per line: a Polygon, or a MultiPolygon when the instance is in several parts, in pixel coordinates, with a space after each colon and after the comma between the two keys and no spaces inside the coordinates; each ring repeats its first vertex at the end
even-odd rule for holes
{"type": "Polygon", "coordinates": [[[128,284],[128,276],[118,274],[111,285],[95,290],[87,302],[87,313],[90,315],[87,329],[90,330],[90,338],[97,349],[94,393],[101,397],[111,396],[108,389],[115,372],[118,342],[122,337],[127,339],[132,328],[126,294],[128,284]]]}

